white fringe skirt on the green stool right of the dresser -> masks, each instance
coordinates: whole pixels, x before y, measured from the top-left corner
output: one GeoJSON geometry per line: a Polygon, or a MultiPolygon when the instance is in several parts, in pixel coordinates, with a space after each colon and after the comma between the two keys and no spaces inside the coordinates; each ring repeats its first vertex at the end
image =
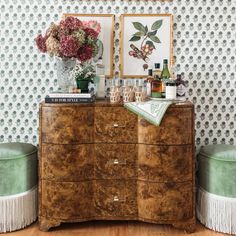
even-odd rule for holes
{"type": "Polygon", "coordinates": [[[197,218],[212,230],[236,235],[236,198],[218,196],[199,187],[197,218]]]}

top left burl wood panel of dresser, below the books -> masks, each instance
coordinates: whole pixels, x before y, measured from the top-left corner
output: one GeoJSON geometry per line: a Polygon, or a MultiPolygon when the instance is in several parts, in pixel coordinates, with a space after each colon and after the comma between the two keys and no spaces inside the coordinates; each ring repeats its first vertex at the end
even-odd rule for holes
{"type": "Polygon", "coordinates": [[[41,138],[45,143],[93,142],[92,107],[42,107],[41,138]]]}

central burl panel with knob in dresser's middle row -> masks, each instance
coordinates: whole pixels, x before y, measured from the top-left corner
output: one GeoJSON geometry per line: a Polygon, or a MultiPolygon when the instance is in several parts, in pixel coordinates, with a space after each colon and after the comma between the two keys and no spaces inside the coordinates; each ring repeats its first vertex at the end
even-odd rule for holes
{"type": "Polygon", "coordinates": [[[95,178],[134,178],[137,152],[136,144],[95,144],[95,178]]]}

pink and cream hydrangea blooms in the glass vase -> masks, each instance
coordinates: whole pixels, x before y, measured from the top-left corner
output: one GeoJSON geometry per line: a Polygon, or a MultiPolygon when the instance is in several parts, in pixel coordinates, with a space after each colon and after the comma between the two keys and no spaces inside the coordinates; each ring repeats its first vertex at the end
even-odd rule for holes
{"type": "Polygon", "coordinates": [[[38,49],[50,56],[76,58],[86,62],[98,53],[98,35],[101,26],[97,21],[81,21],[75,17],[66,17],[59,24],[52,24],[35,39],[38,49]]]}

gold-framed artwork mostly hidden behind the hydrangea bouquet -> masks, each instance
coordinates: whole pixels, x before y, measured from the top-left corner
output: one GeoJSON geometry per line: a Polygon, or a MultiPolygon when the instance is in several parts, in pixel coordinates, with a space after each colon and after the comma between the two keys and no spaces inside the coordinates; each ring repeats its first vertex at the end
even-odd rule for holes
{"type": "MultiPolygon", "coordinates": [[[[64,14],[63,17],[73,16],[81,21],[97,21],[100,23],[98,56],[102,57],[105,65],[106,77],[113,77],[113,55],[114,55],[114,15],[113,14],[64,14]]],[[[98,58],[94,58],[95,63],[98,58]]]]}

